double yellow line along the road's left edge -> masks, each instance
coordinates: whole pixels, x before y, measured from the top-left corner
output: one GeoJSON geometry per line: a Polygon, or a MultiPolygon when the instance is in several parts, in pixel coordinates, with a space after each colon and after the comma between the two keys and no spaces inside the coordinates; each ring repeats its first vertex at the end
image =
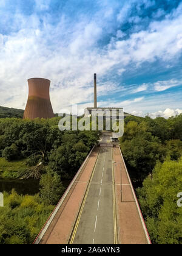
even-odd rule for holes
{"type": "Polygon", "coordinates": [[[88,196],[88,193],[89,193],[89,189],[90,189],[90,185],[91,185],[91,182],[92,182],[92,179],[93,179],[93,175],[94,175],[94,173],[95,173],[96,164],[98,163],[98,158],[99,158],[99,155],[100,155],[100,151],[101,151],[101,150],[99,150],[99,152],[98,152],[98,156],[97,156],[97,159],[96,159],[96,162],[95,162],[95,166],[94,166],[94,168],[93,168],[92,176],[90,177],[89,185],[88,185],[88,187],[87,187],[86,194],[84,195],[84,199],[83,199],[83,202],[82,202],[82,204],[81,204],[81,208],[80,208],[80,210],[79,210],[78,218],[76,219],[75,227],[74,227],[74,229],[73,229],[72,236],[71,236],[71,238],[70,238],[69,244],[72,244],[73,241],[74,241],[74,239],[75,239],[76,231],[77,231],[77,229],[78,229],[78,224],[79,224],[79,221],[80,221],[80,219],[81,219],[81,215],[82,215],[82,212],[83,212],[84,205],[85,205],[85,203],[86,203],[86,199],[87,199],[87,196],[88,196]]]}

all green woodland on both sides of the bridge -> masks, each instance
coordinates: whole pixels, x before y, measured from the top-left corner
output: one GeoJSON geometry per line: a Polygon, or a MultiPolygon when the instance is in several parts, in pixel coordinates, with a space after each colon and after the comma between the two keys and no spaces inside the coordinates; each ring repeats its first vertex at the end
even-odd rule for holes
{"type": "MultiPolygon", "coordinates": [[[[32,243],[98,132],[60,132],[60,118],[0,119],[0,176],[39,180],[35,196],[4,193],[0,243],[32,243]]],[[[182,243],[182,115],[129,116],[120,140],[152,243],[182,243]]]]}

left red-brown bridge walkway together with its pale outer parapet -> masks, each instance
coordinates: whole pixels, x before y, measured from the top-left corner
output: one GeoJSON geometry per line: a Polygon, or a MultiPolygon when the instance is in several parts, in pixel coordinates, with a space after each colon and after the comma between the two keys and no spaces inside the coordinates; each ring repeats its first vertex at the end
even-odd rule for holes
{"type": "Polygon", "coordinates": [[[58,243],[64,244],[69,241],[79,207],[83,201],[84,193],[89,183],[93,167],[98,157],[99,149],[95,146],[87,155],[83,165],[79,168],[69,187],[56,205],[49,219],[42,227],[36,237],[34,244],[39,243],[58,243]],[[60,225],[56,225],[60,223],[60,225]],[[61,227],[61,229],[59,229],[61,227]]]}

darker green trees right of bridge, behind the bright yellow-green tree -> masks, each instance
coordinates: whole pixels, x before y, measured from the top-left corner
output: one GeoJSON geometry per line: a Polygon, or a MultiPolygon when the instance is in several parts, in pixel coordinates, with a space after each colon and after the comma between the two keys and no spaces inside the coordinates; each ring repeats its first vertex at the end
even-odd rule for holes
{"type": "Polygon", "coordinates": [[[182,114],[169,119],[127,117],[120,146],[134,185],[142,183],[158,160],[182,155],[182,114]]]}

